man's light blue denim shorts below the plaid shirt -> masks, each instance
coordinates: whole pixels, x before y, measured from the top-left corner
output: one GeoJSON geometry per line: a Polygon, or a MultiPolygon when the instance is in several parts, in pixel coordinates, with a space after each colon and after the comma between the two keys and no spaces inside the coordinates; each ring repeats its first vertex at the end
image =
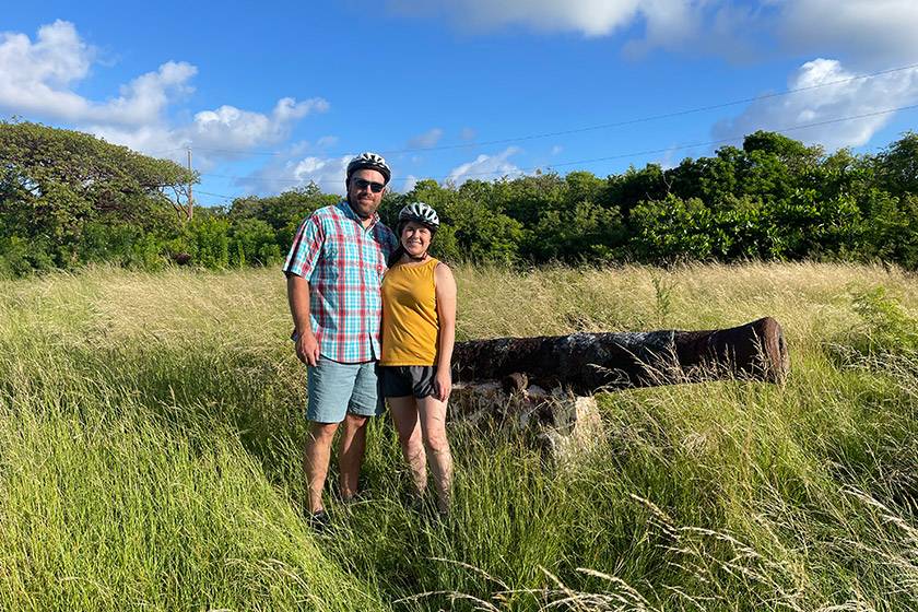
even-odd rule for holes
{"type": "Polygon", "coordinates": [[[348,412],[361,416],[382,413],[376,362],[345,364],[319,356],[318,363],[306,370],[309,421],[341,423],[348,412]]]}

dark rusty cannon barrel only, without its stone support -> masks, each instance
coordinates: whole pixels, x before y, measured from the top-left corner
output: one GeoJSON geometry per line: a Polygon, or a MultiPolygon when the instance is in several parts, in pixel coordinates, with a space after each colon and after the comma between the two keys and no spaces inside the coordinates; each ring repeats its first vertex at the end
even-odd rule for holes
{"type": "Polygon", "coordinates": [[[731,377],[780,382],[789,368],[781,327],[770,317],[706,331],[472,340],[456,344],[452,363],[456,381],[561,386],[578,396],[731,377]]]}

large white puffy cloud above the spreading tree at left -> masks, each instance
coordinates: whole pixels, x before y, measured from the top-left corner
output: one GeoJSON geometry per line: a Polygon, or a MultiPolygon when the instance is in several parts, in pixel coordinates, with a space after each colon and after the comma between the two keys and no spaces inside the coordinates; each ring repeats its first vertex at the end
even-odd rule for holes
{"type": "Polygon", "coordinates": [[[42,26],[34,42],[21,33],[0,34],[0,108],[63,121],[109,142],[176,160],[184,153],[175,150],[200,148],[203,154],[197,158],[207,167],[215,158],[281,142],[296,121],[329,106],[320,97],[302,102],[284,97],[267,114],[223,105],[175,125],[168,110],[192,91],[196,67],[167,61],[122,85],[117,96],[99,102],[73,89],[89,75],[95,58],[93,47],[66,21],[42,26]]]}

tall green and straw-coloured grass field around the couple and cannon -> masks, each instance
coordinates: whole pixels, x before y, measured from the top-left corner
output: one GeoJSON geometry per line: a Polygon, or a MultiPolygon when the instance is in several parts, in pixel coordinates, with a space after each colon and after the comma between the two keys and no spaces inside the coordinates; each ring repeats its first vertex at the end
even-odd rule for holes
{"type": "Polygon", "coordinates": [[[918,282],[884,268],[457,270],[459,339],[784,326],[784,387],[600,397],[577,469],[455,431],[455,513],[299,516],[305,372],[276,270],[0,282],[5,610],[915,610],[918,282]]]}

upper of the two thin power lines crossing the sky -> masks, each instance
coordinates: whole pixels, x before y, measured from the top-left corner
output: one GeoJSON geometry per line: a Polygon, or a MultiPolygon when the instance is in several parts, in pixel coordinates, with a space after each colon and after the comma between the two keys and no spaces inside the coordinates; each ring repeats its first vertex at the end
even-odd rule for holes
{"type": "MultiPolygon", "coordinates": [[[[468,148],[472,148],[472,146],[489,146],[489,145],[493,145],[493,144],[507,144],[507,143],[510,143],[510,142],[526,142],[526,141],[538,140],[538,139],[543,139],[543,138],[554,138],[554,137],[570,136],[570,134],[575,134],[575,133],[584,133],[584,132],[590,132],[590,131],[597,131],[597,130],[621,128],[621,127],[625,127],[625,126],[634,126],[634,125],[638,125],[638,123],[647,123],[647,122],[651,122],[651,121],[658,121],[660,119],[671,119],[671,118],[674,118],[674,117],[684,117],[686,115],[706,113],[708,110],[717,110],[719,108],[728,108],[730,106],[737,106],[737,105],[740,105],[740,104],[749,104],[749,103],[760,102],[760,101],[764,101],[764,99],[772,99],[772,98],[787,96],[787,95],[791,95],[791,94],[796,94],[796,93],[800,93],[800,92],[817,90],[817,89],[821,89],[821,87],[828,87],[828,86],[832,86],[832,85],[840,85],[840,84],[845,84],[845,83],[851,83],[854,81],[872,79],[872,78],[875,78],[875,76],[882,76],[884,74],[892,74],[892,73],[902,72],[902,71],[905,71],[905,70],[914,70],[916,68],[918,68],[918,63],[911,63],[909,66],[902,66],[902,67],[898,67],[898,68],[890,68],[890,69],[886,69],[886,70],[879,70],[876,72],[868,72],[868,73],[864,73],[864,74],[858,74],[856,76],[849,76],[847,79],[838,79],[836,81],[827,81],[827,82],[824,82],[824,83],[815,83],[813,85],[788,89],[788,90],[784,90],[784,91],[775,92],[775,93],[770,93],[770,94],[762,94],[762,95],[757,95],[757,96],[744,97],[744,98],[734,99],[734,101],[730,101],[730,102],[722,102],[722,103],[718,103],[718,104],[709,104],[709,105],[706,105],[706,106],[686,108],[686,109],[683,109],[683,110],[674,110],[674,111],[671,111],[671,113],[662,113],[662,114],[659,114],[659,115],[648,115],[648,116],[645,116],[645,117],[638,117],[638,118],[634,118],[634,119],[625,119],[625,120],[622,120],[622,121],[614,121],[614,122],[610,122],[610,123],[599,123],[599,125],[595,125],[595,126],[572,128],[572,129],[568,129],[568,130],[558,130],[558,131],[553,131],[553,132],[523,134],[523,136],[494,139],[494,140],[462,142],[462,143],[455,143],[455,144],[440,144],[440,145],[433,145],[433,146],[414,146],[414,148],[405,148],[405,149],[391,149],[391,150],[388,150],[388,151],[379,151],[379,153],[382,154],[382,155],[393,155],[393,154],[399,154],[399,153],[416,153],[416,152],[423,152],[423,151],[447,151],[447,150],[454,150],[454,149],[468,149],[468,148]]],[[[162,151],[161,153],[168,153],[168,152],[173,152],[173,151],[181,151],[184,149],[185,148],[172,149],[172,150],[162,151]]],[[[285,156],[285,155],[290,154],[290,152],[286,152],[286,151],[246,151],[245,149],[219,149],[219,148],[207,148],[207,146],[196,146],[195,149],[197,151],[209,151],[209,152],[213,152],[213,153],[246,153],[248,155],[266,155],[266,156],[285,156]]],[[[341,157],[341,156],[345,156],[348,154],[349,153],[338,153],[338,154],[329,155],[329,157],[341,157]]]]}

